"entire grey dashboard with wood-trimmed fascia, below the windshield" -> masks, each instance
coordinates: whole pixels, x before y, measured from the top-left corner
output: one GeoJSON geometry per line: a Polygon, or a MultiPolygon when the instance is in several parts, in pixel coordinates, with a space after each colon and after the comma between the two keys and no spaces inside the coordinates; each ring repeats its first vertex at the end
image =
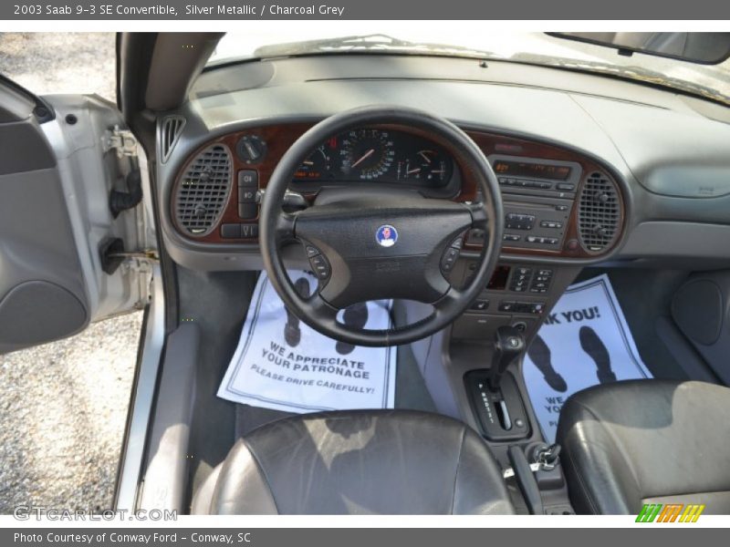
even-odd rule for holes
{"type": "MultiPolygon", "coordinates": [[[[449,119],[489,160],[506,216],[502,273],[486,291],[549,305],[563,278],[587,264],[730,256],[728,108],[556,68],[344,55],[204,72],[189,102],[159,117],[157,190],[172,259],[197,270],[262,269],[258,200],[278,160],[319,120],[371,104],[449,119]]],[[[478,200],[449,147],[409,127],[354,128],[311,150],[289,190],[308,203],[331,188],[386,187],[478,200]]],[[[453,273],[464,282],[484,237],[466,234],[453,273]]],[[[307,266],[297,246],[285,258],[307,266]]]]}

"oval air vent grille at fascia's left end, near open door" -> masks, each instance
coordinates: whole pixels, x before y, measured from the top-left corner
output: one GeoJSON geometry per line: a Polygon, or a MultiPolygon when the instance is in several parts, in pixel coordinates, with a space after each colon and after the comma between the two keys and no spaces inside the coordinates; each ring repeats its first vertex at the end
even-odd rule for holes
{"type": "Polygon", "coordinates": [[[231,152],[214,144],[200,152],[183,173],[174,200],[178,224],[193,235],[206,235],[220,222],[231,193],[231,152]]]}

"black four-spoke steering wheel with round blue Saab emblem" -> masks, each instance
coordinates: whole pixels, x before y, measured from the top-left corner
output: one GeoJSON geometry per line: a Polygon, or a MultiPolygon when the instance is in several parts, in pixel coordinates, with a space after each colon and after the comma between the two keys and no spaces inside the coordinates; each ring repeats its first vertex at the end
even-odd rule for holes
{"type": "Polygon", "coordinates": [[[261,203],[260,243],[266,273],[288,310],[323,335],[355,346],[395,346],[433,335],[474,302],[495,270],[504,214],[495,173],[462,129],[427,112],[404,107],[355,108],[324,119],[304,133],[279,160],[261,203]],[[282,202],[298,167],[333,135],[372,126],[420,130],[443,142],[465,176],[481,191],[478,203],[426,199],[416,192],[342,191],[308,209],[284,212],[282,202]],[[485,230],[485,244],[472,281],[454,287],[448,273],[463,235],[485,230]],[[305,246],[318,289],[297,293],[282,259],[284,243],[305,246]],[[401,298],[433,305],[411,325],[385,330],[339,323],[350,304],[401,298]]]}

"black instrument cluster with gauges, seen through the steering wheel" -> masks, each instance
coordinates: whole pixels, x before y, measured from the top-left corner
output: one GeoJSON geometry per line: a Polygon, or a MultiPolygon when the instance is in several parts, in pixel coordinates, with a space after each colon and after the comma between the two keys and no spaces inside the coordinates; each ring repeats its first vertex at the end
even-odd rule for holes
{"type": "Polygon", "coordinates": [[[454,174],[454,160],[428,139],[387,129],[352,129],[318,146],[295,173],[306,182],[385,182],[438,189],[454,174]]]}

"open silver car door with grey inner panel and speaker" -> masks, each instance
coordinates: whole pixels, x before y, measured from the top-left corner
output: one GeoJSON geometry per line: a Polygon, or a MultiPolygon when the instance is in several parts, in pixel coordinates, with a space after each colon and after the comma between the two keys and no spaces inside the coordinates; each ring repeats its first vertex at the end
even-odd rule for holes
{"type": "Polygon", "coordinates": [[[56,118],[39,123],[32,100],[0,88],[0,353],[146,304],[144,258],[106,274],[99,254],[110,239],[127,252],[146,248],[142,208],[115,219],[109,207],[110,191],[123,191],[136,167],[105,151],[120,115],[96,97],[47,102],[56,118]]]}

